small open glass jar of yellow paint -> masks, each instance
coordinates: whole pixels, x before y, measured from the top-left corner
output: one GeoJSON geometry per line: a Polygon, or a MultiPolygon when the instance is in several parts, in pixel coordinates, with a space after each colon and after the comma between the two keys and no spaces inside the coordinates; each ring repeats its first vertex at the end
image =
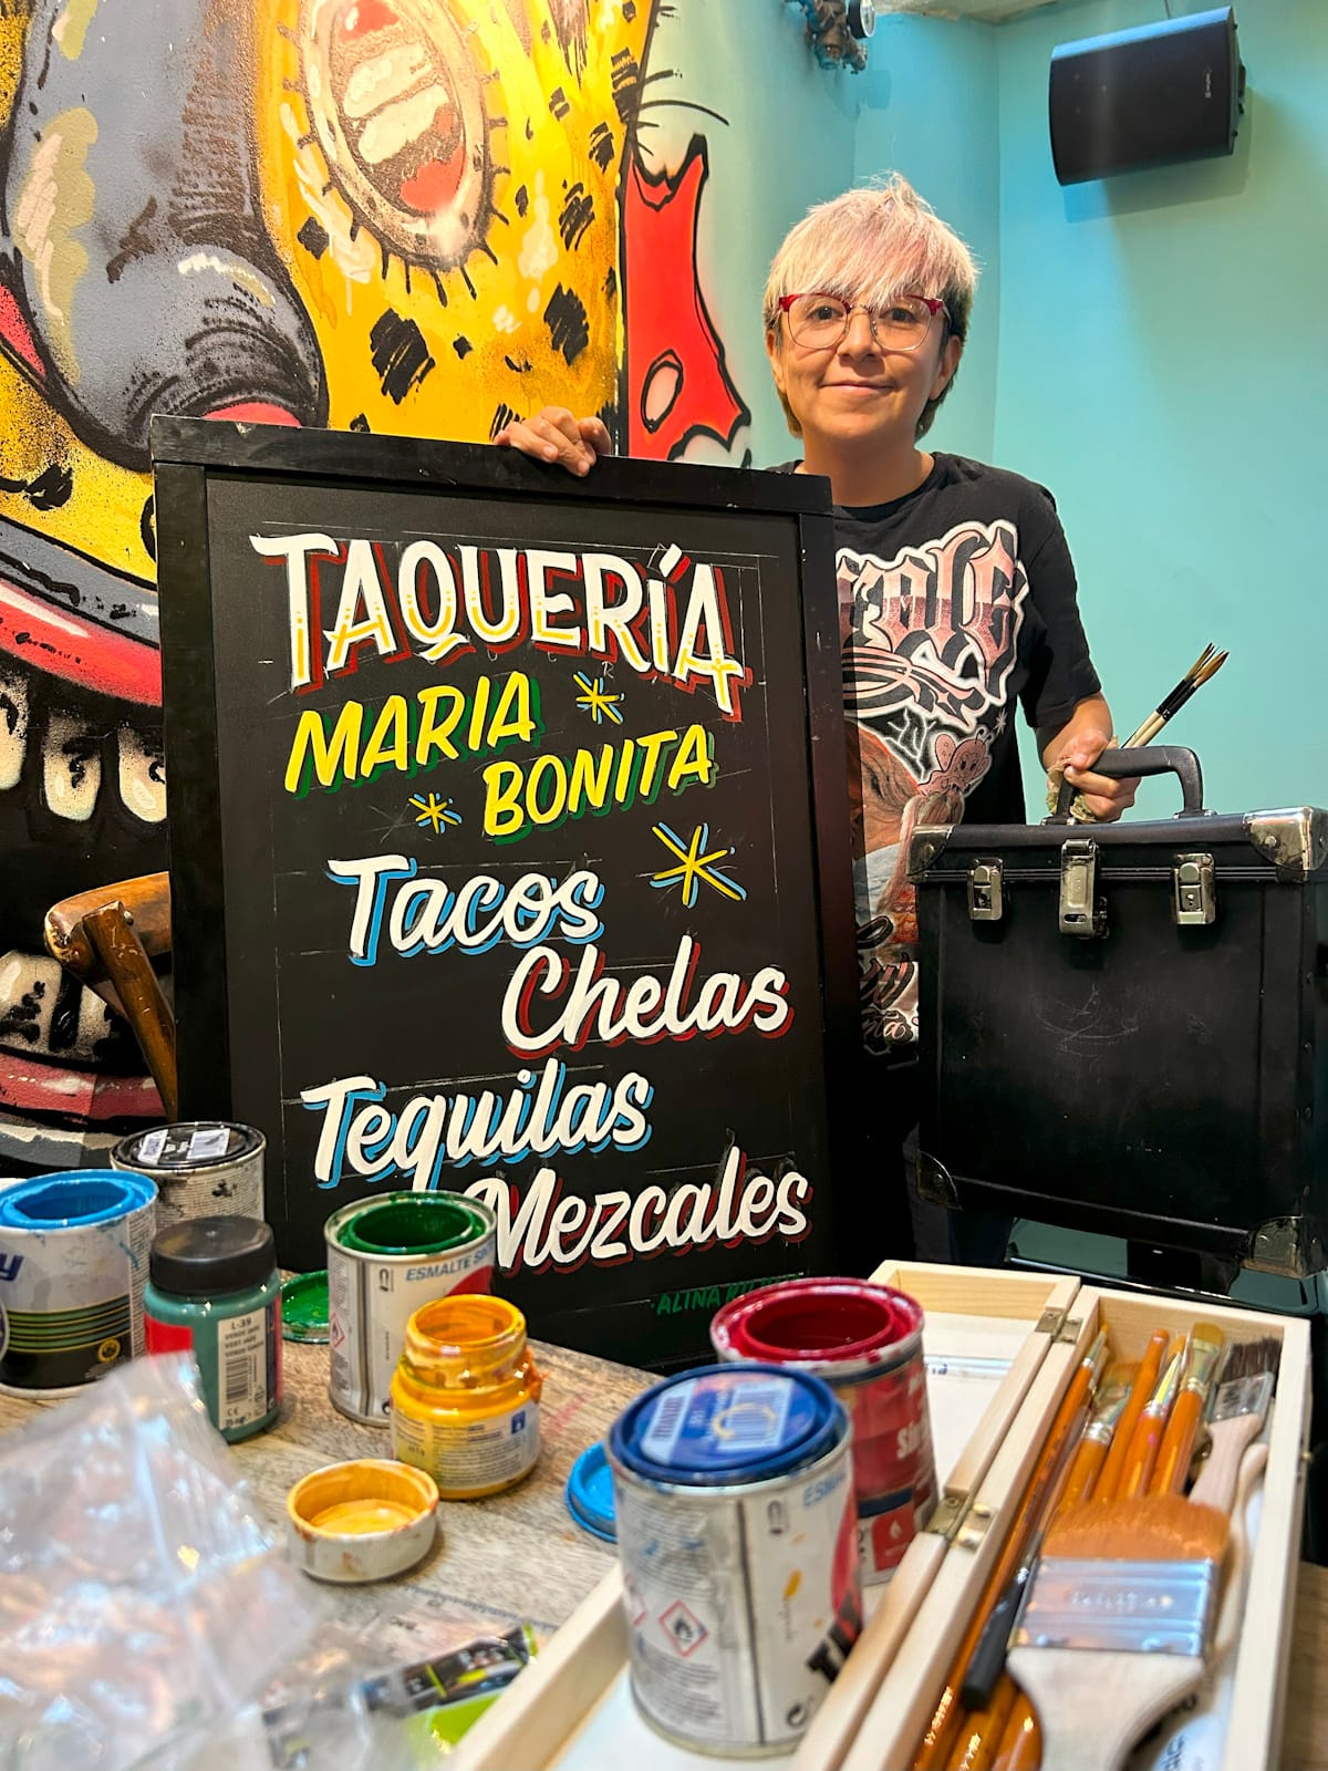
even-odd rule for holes
{"type": "Polygon", "coordinates": [[[540,1456],[540,1390],[526,1318],[506,1298],[453,1295],[405,1325],[391,1380],[391,1449],[446,1500],[512,1488],[540,1456]]]}

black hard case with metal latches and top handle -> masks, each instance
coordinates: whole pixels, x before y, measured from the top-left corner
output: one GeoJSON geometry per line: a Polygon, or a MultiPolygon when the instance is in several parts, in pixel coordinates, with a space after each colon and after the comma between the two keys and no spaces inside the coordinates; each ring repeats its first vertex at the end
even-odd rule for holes
{"type": "MultiPolygon", "coordinates": [[[[1328,813],[919,827],[917,1185],[1301,1279],[1328,1240],[1328,813]]],[[[1100,767],[1103,767],[1100,765],[1100,767]]],[[[1215,1279],[1216,1275],[1216,1279],[1215,1279]]]]}

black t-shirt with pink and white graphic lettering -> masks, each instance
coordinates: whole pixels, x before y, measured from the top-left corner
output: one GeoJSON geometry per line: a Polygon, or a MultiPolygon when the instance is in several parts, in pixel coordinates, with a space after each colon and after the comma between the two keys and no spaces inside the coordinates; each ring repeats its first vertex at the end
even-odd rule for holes
{"type": "Polygon", "coordinates": [[[1100,689],[1052,494],[937,455],[889,505],[836,507],[853,887],[868,1050],[917,1038],[919,824],[1022,824],[1016,700],[1062,726],[1100,689]]]}

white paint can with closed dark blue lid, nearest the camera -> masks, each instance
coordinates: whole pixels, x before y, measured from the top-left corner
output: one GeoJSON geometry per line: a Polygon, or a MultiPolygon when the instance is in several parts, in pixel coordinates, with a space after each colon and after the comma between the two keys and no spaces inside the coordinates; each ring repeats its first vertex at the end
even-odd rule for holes
{"type": "Polygon", "coordinates": [[[609,1435],[632,1695],[680,1746],[788,1752],[862,1628],[852,1429],[811,1373],[708,1365],[609,1435]]]}

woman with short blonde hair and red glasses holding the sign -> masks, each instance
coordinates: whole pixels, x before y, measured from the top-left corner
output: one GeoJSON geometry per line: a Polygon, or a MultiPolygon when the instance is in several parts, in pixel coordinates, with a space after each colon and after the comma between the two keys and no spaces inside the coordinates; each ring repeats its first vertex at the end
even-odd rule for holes
{"type": "MultiPolygon", "coordinates": [[[[963,241],[894,175],[820,204],[791,230],[765,290],[765,345],[802,459],[830,480],[850,730],[862,976],[864,1118],[887,1179],[875,1247],[899,1252],[899,1146],[915,1121],[915,923],[905,855],[919,822],[1022,824],[1013,712],[1038,730],[1096,818],[1133,781],[1093,772],[1112,715],[1078,616],[1050,492],[919,448],[963,352],[977,271],[963,241]]],[[[561,407],[498,443],[584,475],[611,448],[598,418],[561,407]]],[[[954,1254],[999,1259],[1008,1220],[960,1213],[954,1254]]]]}

